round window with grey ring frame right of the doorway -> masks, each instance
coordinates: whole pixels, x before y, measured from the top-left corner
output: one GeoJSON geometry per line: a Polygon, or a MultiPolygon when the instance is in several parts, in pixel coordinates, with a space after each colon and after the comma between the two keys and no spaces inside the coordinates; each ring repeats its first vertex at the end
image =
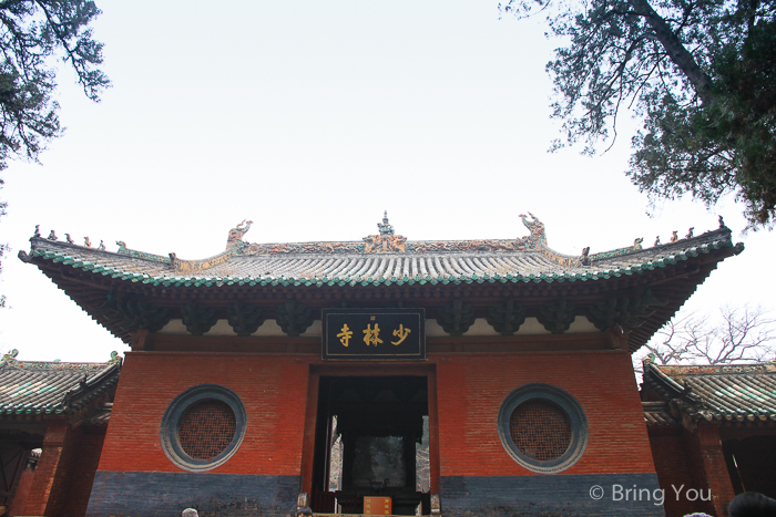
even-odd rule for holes
{"type": "Polygon", "coordinates": [[[549,384],[529,384],[507,396],[499,412],[507,452],[532,472],[565,471],[584,453],[588,421],[580,404],[549,384]]]}

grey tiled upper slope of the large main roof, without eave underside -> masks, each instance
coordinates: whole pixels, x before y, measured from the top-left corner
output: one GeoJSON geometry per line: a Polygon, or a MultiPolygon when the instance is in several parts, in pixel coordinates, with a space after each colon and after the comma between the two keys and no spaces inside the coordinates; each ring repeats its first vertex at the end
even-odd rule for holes
{"type": "MultiPolygon", "coordinates": [[[[640,275],[716,249],[734,248],[731,231],[725,227],[649,249],[627,247],[582,257],[555,252],[547,247],[545,240],[517,248],[513,244],[520,240],[415,241],[406,242],[404,251],[386,252],[349,248],[344,252],[323,251],[336,250],[337,245],[348,242],[248,245],[239,241],[245,245],[242,251],[233,246],[221,255],[194,261],[180,260],[171,254],[173,259],[165,261],[160,256],[129,250],[123,242],[120,252],[109,252],[39,236],[30,240],[30,254],[19,254],[22,260],[42,259],[98,276],[164,287],[574,282],[640,275]],[[512,245],[502,246],[503,242],[512,245]],[[407,251],[410,244],[423,251],[407,251]],[[252,249],[258,251],[254,254],[252,249]],[[264,249],[290,251],[264,254],[264,249]]],[[[736,252],[741,249],[743,245],[735,246],[736,252]]]]}

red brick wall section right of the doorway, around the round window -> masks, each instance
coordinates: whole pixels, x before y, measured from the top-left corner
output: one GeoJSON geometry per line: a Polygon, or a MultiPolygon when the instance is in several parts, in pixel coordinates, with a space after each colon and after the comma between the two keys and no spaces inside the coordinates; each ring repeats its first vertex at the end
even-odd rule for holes
{"type": "Polygon", "coordinates": [[[503,400],[529,383],[565,390],[580,403],[588,448],[563,474],[654,472],[631,358],[621,351],[450,354],[437,366],[442,476],[533,475],[504,451],[503,400]]]}

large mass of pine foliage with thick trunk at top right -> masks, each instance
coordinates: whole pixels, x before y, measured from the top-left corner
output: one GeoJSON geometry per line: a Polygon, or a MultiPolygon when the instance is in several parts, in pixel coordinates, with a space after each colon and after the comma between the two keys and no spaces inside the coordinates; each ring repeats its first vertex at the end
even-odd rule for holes
{"type": "Polygon", "coordinates": [[[644,121],[629,177],[653,200],[734,194],[776,223],[776,0],[510,0],[568,42],[548,63],[553,116],[594,153],[622,108],[644,121]]]}

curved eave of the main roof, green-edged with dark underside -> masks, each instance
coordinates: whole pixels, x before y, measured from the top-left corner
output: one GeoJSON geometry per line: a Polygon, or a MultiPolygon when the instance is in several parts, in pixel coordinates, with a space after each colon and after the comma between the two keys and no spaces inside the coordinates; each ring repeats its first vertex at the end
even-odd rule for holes
{"type": "MultiPolygon", "coordinates": [[[[273,297],[277,297],[278,290],[283,289],[288,294],[294,293],[294,297],[300,299],[321,299],[317,304],[324,307],[334,302],[334,300],[326,301],[330,298],[350,298],[351,296],[359,298],[360,293],[375,289],[387,289],[384,299],[388,301],[388,298],[394,297],[391,294],[394,289],[401,287],[402,296],[408,297],[408,286],[425,286],[423,293],[420,296],[427,297],[426,301],[430,307],[433,303],[445,301],[445,297],[451,292],[463,293],[456,296],[476,292],[479,293],[477,296],[487,298],[490,296],[488,292],[500,292],[501,294],[497,296],[503,297],[504,292],[511,290],[513,297],[528,296],[532,300],[542,296],[544,298],[574,298],[579,297],[579,292],[586,292],[588,294],[583,298],[589,302],[592,298],[603,299],[606,296],[616,294],[617,289],[620,289],[617,286],[621,285],[632,287],[634,285],[651,285],[655,296],[666,301],[666,304],[656,307],[654,313],[646,318],[640,328],[631,332],[629,348],[631,352],[634,352],[673,317],[697,286],[716,268],[717,262],[741,251],[741,245],[734,247],[729,240],[729,232],[725,236],[721,235],[721,237],[727,238],[712,240],[686,249],[677,249],[668,256],[645,260],[642,263],[549,275],[508,273],[366,279],[336,276],[333,278],[160,277],[104,267],[71,257],[65,252],[45,249],[33,249],[29,256],[20,252],[20,258],[38,266],[92,319],[127,343],[131,341],[130,333],[105,318],[104,310],[100,308],[112,289],[135,294],[149,294],[152,298],[165,293],[167,307],[177,307],[183,300],[192,298],[223,301],[226,298],[239,299],[242,297],[255,300],[257,293],[249,288],[258,287],[263,289],[265,294],[272,293],[273,297]],[[673,279],[677,279],[677,281],[673,279]],[[666,283],[668,281],[673,281],[673,283],[666,283]],[[658,283],[661,286],[657,286],[658,283]],[[436,292],[436,294],[428,294],[428,292],[436,292]],[[540,294],[541,292],[545,294],[540,294]],[[442,298],[439,298],[440,296],[442,298]]],[[[415,303],[420,302],[419,299],[416,299],[419,294],[417,289],[416,287],[415,296],[411,297],[415,303]]],[[[397,297],[398,292],[395,292],[397,297]]],[[[266,297],[267,302],[269,302],[269,294],[266,297]]]]}

